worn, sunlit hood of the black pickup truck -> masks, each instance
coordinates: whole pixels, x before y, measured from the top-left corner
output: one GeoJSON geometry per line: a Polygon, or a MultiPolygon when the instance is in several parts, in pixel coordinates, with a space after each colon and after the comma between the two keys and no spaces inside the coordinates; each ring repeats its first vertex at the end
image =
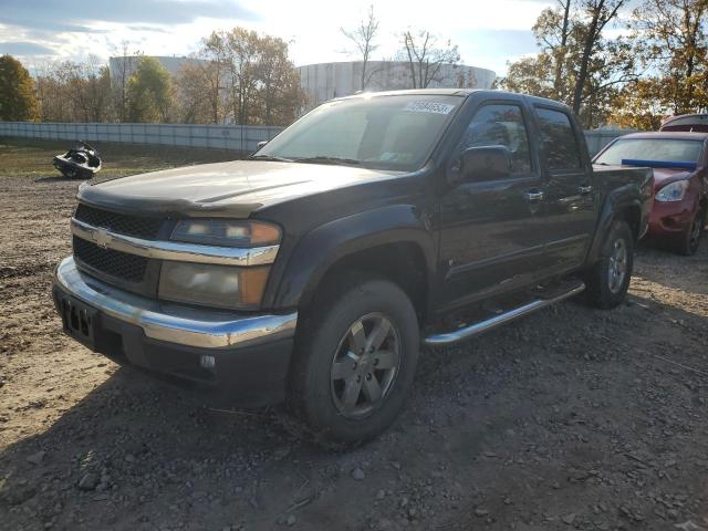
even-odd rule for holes
{"type": "Polygon", "coordinates": [[[233,160],[82,185],[77,198],[124,211],[247,218],[275,202],[400,174],[352,166],[233,160]]]}

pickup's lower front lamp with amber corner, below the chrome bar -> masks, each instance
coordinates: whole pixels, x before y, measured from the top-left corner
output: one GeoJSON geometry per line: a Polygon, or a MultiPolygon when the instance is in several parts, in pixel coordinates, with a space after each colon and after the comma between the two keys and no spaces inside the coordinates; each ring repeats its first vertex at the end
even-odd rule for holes
{"type": "Polygon", "coordinates": [[[253,309],[261,302],[269,272],[270,266],[237,268],[164,261],[158,296],[212,308],[253,309]]]}

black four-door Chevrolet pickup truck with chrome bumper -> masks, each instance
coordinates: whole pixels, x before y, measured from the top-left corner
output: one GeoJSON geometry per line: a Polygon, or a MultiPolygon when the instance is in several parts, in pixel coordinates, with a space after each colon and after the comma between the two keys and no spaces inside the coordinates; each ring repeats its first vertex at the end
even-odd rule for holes
{"type": "Polygon", "coordinates": [[[593,170],[564,105],[497,91],[325,103],[248,160],[80,188],[53,288],[118,363],[287,402],[320,440],[384,430],[421,344],[626,295],[652,170],[593,170]]]}

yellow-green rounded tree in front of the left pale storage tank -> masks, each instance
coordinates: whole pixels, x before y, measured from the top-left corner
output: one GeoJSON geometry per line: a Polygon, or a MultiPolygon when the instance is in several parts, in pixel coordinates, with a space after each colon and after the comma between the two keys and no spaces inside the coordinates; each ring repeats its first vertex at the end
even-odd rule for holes
{"type": "Polygon", "coordinates": [[[131,122],[169,122],[174,86],[169,72],[154,58],[143,58],[127,84],[131,122]]]}

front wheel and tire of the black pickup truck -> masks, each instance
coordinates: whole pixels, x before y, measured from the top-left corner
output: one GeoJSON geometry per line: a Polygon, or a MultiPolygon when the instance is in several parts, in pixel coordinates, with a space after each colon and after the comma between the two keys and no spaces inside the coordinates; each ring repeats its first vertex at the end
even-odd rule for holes
{"type": "Polygon", "coordinates": [[[347,275],[327,285],[331,294],[315,300],[298,332],[289,404],[315,442],[350,446],[384,431],[403,409],[418,361],[418,320],[387,280],[347,275]]]}

